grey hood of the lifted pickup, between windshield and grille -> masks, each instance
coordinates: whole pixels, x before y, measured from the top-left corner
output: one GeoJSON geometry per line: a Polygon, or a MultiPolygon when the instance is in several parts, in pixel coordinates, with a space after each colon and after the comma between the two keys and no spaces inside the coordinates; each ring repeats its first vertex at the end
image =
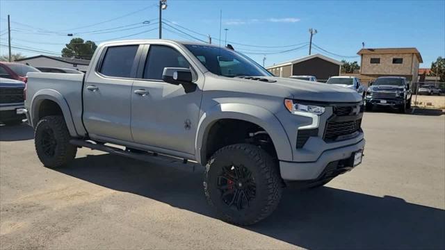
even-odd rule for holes
{"type": "Polygon", "coordinates": [[[328,102],[362,101],[362,96],[357,91],[344,88],[343,85],[330,85],[280,77],[265,78],[276,81],[275,83],[268,83],[270,85],[286,88],[293,95],[293,99],[328,102]]]}

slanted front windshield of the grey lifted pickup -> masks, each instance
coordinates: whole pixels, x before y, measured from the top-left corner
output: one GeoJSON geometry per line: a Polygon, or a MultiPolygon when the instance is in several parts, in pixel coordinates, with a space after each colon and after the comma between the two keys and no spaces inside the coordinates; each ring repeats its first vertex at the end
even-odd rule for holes
{"type": "Polygon", "coordinates": [[[230,49],[195,44],[185,46],[209,72],[218,76],[273,76],[250,58],[230,49]]]}

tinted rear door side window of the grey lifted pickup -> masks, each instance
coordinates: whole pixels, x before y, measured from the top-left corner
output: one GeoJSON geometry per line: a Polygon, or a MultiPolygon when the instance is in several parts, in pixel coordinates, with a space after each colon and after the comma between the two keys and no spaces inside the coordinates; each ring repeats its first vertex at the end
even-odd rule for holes
{"type": "Polygon", "coordinates": [[[131,77],[131,67],[138,47],[139,45],[108,47],[99,72],[105,76],[131,77]]]}

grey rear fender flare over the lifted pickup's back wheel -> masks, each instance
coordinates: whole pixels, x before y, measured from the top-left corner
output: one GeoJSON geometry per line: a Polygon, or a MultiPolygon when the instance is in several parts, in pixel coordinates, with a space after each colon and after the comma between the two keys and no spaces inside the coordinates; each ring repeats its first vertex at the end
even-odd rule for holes
{"type": "Polygon", "coordinates": [[[62,94],[57,92],[56,90],[39,90],[33,96],[31,100],[31,125],[35,127],[41,118],[40,107],[46,101],[51,101],[54,105],[57,105],[58,108],[62,111],[63,118],[65,119],[65,123],[67,124],[68,131],[70,131],[71,136],[77,136],[76,128],[74,127],[74,122],[72,120],[70,106],[68,106],[67,101],[62,94]]]}

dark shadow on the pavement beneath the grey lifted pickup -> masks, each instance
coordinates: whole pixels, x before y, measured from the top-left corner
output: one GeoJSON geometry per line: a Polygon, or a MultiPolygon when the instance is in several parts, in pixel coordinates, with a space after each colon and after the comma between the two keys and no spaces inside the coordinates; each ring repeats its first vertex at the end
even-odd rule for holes
{"type": "MultiPolygon", "coordinates": [[[[76,158],[64,174],[215,217],[203,168],[170,167],[104,154],[76,158]]],[[[307,249],[444,249],[445,211],[336,188],[286,188],[275,213],[244,227],[307,249]]],[[[252,246],[254,247],[254,246],[252,246]]]]}

